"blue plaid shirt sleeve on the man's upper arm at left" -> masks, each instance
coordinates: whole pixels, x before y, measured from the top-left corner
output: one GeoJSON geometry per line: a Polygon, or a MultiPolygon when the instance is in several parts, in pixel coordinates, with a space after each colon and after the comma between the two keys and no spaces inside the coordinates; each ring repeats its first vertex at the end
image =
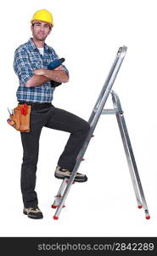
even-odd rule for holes
{"type": "Polygon", "coordinates": [[[14,72],[23,83],[26,83],[34,75],[25,49],[16,49],[14,52],[14,72]]]}

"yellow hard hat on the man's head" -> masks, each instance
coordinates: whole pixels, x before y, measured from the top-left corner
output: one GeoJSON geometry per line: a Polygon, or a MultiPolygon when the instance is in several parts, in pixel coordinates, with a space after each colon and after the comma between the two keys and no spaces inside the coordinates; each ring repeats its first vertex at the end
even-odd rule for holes
{"type": "Polygon", "coordinates": [[[53,24],[53,15],[48,12],[47,9],[39,9],[36,11],[36,13],[32,16],[31,18],[31,22],[33,20],[42,20],[42,21],[46,21],[48,23],[50,23],[52,26],[53,24]]]}

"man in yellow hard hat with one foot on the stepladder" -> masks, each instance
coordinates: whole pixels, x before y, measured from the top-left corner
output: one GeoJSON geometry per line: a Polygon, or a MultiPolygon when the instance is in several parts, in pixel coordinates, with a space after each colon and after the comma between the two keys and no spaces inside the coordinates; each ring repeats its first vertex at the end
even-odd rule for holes
{"type": "MultiPolygon", "coordinates": [[[[87,137],[87,121],[52,105],[53,83],[67,83],[69,72],[64,65],[48,70],[48,64],[59,59],[54,49],[45,44],[53,27],[53,16],[46,9],[38,10],[31,19],[32,38],[14,53],[14,71],[20,86],[16,96],[19,104],[31,105],[31,131],[20,132],[23,146],[21,192],[24,214],[29,218],[43,218],[35,191],[36,164],[42,127],[70,132],[63,153],[59,157],[55,177],[70,177],[76,157],[87,137]]],[[[76,174],[76,182],[86,182],[87,176],[76,174]]]]}

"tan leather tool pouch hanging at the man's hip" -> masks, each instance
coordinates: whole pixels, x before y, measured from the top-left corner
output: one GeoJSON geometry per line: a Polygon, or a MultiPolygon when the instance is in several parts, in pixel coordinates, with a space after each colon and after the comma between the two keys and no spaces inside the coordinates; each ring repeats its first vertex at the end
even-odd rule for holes
{"type": "Polygon", "coordinates": [[[18,107],[14,108],[14,114],[10,114],[10,119],[13,120],[13,127],[17,131],[30,131],[30,114],[31,106],[27,104],[18,104],[18,107]]]}

